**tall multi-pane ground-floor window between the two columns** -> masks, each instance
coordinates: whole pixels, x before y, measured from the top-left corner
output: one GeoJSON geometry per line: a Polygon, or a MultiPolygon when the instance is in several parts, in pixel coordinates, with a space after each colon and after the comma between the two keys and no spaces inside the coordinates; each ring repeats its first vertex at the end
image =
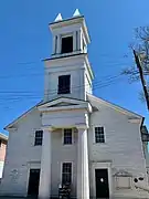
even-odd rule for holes
{"type": "Polygon", "coordinates": [[[72,163],[63,163],[62,165],[62,185],[72,184],[72,163]]]}

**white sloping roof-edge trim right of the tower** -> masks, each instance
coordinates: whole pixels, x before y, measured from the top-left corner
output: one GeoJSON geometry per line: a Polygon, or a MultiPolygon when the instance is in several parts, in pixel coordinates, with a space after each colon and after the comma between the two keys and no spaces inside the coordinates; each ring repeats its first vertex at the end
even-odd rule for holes
{"type": "Polygon", "coordinates": [[[134,113],[134,112],[131,112],[131,111],[128,111],[128,109],[123,108],[123,107],[120,107],[120,106],[118,106],[118,105],[115,105],[115,104],[113,104],[113,103],[109,103],[109,102],[107,102],[107,101],[105,101],[105,100],[103,100],[103,98],[100,98],[100,97],[96,97],[96,96],[91,95],[91,94],[87,94],[87,96],[88,96],[88,101],[89,101],[89,102],[92,102],[92,100],[95,100],[96,102],[99,102],[99,103],[102,103],[102,104],[105,104],[105,105],[114,108],[115,111],[117,111],[117,112],[119,112],[119,113],[123,113],[123,114],[125,114],[125,115],[128,115],[128,116],[129,116],[129,119],[131,119],[131,121],[142,119],[142,118],[143,118],[143,117],[142,117],[141,115],[139,115],[139,114],[136,114],[136,113],[134,113]]]}

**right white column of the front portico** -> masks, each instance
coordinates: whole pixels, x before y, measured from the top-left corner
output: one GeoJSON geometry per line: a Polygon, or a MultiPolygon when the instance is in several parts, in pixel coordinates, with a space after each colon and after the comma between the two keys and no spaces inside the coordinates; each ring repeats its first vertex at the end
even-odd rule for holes
{"type": "Polygon", "coordinates": [[[78,128],[77,199],[89,199],[87,129],[78,128]]]}

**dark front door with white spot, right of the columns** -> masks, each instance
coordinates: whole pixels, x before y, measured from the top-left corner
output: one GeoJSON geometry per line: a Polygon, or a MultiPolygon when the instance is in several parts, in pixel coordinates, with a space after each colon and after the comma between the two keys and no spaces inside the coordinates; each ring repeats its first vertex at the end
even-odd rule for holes
{"type": "Polygon", "coordinates": [[[95,169],[96,198],[109,198],[107,169],[95,169]]]}

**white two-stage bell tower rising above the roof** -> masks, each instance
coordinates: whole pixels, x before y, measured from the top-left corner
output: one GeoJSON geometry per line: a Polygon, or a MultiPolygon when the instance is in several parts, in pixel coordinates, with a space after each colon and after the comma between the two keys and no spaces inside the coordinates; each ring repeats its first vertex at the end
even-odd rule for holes
{"type": "Polygon", "coordinates": [[[71,19],[61,13],[49,24],[53,48],[45,62],[44,102],[60,96],[86,100],[92,93],[93,72],[87,56],[89,34],[86,22],[76,9],[71,19]]]}

